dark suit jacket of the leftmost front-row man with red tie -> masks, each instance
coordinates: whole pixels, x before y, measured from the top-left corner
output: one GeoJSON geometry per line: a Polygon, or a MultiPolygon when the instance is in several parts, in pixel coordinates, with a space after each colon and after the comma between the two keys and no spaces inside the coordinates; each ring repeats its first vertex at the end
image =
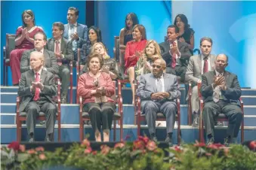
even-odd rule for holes
{"type": "MultiPolygon", "coordinates": [[[[40,95],[44,95],[49,100],[49,102],[56,105],[54,100],[51,99],[52,96],[57,94],[57,87],[54,83],[54,74],[42,70],[40,79],[42,79],[42,83],[44,84],[44,89],[41,91],[40,95]]],[[[26,105],[28,105],[28,103],[32,101],[32,98],[35,96],[35,92],[30,92],[32,81],[35,81],[35,73],[33,70],[29,70],[21,74],[18,90],[18,96],[22,97],[20,103],[20,111],[24,111],[26,105]]]]}

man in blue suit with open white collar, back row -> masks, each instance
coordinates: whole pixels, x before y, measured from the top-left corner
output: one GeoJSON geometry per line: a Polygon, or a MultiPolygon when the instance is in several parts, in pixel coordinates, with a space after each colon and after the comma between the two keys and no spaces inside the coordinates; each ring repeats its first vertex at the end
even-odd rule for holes
{"type": "Polygon", "coordinates": [[[67,11],[66,19],[69,23],[65,24],[63,37],[72,41],[72,51],[74,53],[74,59],[77,60],[77,48],[81,48],[82,44],[88,39],[87,26],[77,23],[79,18],[79,10],[74,7],[70,7],[67,11]]]}

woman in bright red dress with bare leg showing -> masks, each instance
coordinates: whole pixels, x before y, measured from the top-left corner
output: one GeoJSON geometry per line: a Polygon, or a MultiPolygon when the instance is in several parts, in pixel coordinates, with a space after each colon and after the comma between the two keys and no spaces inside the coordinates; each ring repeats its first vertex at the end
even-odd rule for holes
{"type": "Polygon", "coordinates": [[[144,26],[137,24],[132,29],[132,41],[128,41],[125,48],[125,74],[128,74],[131,83],[132,104],[134,105],[134,66],[146,47],[147,36],[144,26]]]}

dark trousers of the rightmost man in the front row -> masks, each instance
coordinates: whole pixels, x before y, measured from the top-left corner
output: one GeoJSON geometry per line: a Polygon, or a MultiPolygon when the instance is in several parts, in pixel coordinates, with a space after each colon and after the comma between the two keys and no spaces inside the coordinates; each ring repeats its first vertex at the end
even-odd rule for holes
{"type": "Polygon", "coordinates": [[[242,123],[242,110],[238,105],[233,105],[224,100],[219,102],[206,102],[202,111],[202,119],[204,121],[207,135],[214,136],[214,117],[218,114],[225,114],[228,118],[227,136],[236,138],[242,123]]]}

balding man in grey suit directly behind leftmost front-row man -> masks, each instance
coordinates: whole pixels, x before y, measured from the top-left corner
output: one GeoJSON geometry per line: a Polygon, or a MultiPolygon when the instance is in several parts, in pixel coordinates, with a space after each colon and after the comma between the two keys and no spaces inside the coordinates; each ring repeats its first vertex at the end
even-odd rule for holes
{"type": "Polygon", "coordinates": [[[44,32],[37,32],[34,36],[34,46],[32,50],[26,50],[23,52],[20,60],[20,72],[31,70],[30,66],[30,53],[33,51],[39,51],[44,54],[44,67],[43,70],[49,71],[52,74],[58,74],[59,66],[57,65],[57,60],[55,54],[49,50],[44,49],[46,44],[46,35],[44,32]]]}

